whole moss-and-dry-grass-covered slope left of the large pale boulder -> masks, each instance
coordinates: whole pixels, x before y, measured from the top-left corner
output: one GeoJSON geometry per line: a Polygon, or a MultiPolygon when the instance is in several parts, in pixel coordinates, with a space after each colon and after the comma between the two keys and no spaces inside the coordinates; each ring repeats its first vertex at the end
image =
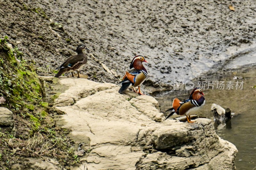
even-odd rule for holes
{"type": "MultiPolygon", "coordinates": [[[[22,52],[0,39],[0,107],[13,112],[12,131],[0,127],[0,167],[12,169],[14,164],[28,167],[26,157],[51,157],[60,166],[78,163],[67,129],[55,128],[45,102],[43,81],[34,64],[22,59],[22,52]],[[42,81],[42,82],[41,82],[42,81]]],[[[1,169],[1,168],[0,168],[1,169]]]]}

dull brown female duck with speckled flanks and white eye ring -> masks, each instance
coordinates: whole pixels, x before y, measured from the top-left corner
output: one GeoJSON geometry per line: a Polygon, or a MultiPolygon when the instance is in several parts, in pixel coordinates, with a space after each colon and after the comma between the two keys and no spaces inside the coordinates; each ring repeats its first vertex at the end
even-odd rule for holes
{"type": "Polygon", "coordinates": [[[54,77],[60,77],[61,74],[67,72],[71,72],[72,77],[74,77],[73,72],[77,71],[77,78],[80,78],[79,69],[87,63],[87,56],[83,53],[84,49],[89,50],[86,45],[80,44],[76,48],[77,55],[70,56],[60,67],[57,67],[56,69],[60,69],[60,71],[54,77]]]}

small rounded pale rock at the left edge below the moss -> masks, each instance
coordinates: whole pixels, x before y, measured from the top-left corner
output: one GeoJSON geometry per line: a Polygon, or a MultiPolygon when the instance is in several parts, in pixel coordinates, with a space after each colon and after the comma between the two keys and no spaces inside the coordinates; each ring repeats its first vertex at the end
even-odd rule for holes
{"type": "Polygon", "coordinates": [[[14,121],[12,111],[5,107],[0,107],[0,126],[13,127],[14,121]]]}

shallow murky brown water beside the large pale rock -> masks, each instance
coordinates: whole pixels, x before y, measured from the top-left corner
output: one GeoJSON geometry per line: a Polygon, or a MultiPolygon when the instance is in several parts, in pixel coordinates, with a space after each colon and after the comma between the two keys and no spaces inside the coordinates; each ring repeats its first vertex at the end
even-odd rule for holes
{"type": "MultiPolygon", "coordinates": [[[[227,124],[220,124],[215,126],[216,133],[223,139],[236,145],[238,153],[236,156],[236,168],[240,169],[253,169],[256,166],[256,66],[219,70],[217,72],[207,73],[205,76],[198,77],[193,82],[197,85],[197,81],[234,81],[234,89],[223,90],[207,89],[204,91],[206,104],[198,113],[198,116],[204,116],[212,119],[213,113],[211,112],[212,103],[218,104],[223,108],[230,108],[235,113],[235,116],[227,124]],[[242,79],[234,80],[233,76],[242,79]],[[243,89],[235,88],[236,81],[243,83],[243,89]]],[[[239,83],[240,85],[240,83],[239,83]]],[[[165,111],[171,107],[172,100],[178,97],[180,100],[187,99],[191,90],[186,90],[184,85],[177,90],[155,94],[156,100],[161,105],[161,111],[165,111]]]]}

